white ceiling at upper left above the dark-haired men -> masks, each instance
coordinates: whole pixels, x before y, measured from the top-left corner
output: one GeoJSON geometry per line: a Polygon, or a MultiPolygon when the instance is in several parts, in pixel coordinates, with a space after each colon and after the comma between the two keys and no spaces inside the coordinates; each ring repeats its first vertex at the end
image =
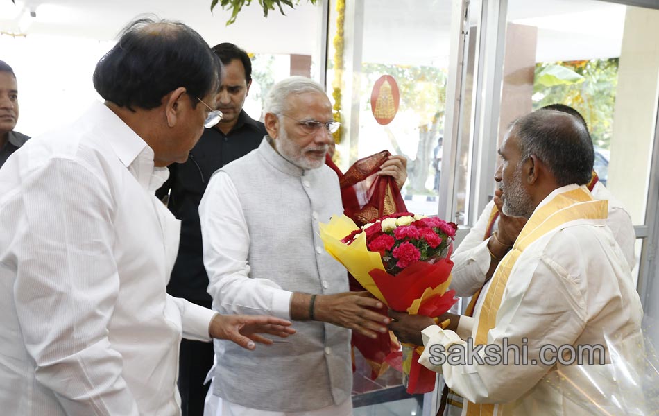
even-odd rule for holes
{"type": "Polygon", "coordinates": [[[306,1],[286,16],[278,10],[266,19],[257,1],[243,8],[236,23],[226,26],[230,12],[211,0],[0,0],[0,31],[50,34],[112,40],[135,16],[155,13],[180,20],[198,31],[211,45],[235,42],[253,53],[311,54],[318,38],[318,8],[306,1]],[[35,17],[30,17],[30,12],[35,17]],[[295,28],[295,30],[291,30],[295,28]],[[307,36],[300,36],[306,33],[307,36]]]}

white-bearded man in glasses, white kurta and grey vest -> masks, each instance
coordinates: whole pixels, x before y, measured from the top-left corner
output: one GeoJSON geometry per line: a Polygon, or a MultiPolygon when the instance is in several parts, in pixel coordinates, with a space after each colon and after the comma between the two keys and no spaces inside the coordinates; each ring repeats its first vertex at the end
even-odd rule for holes
{"type": "Polygon", "coordinates": [[[216,343],[218,412],[352,415],[349,329],[375,338],[389,320],[368,309],[381,302],[348,291],[320,240],[318,223],[343,212],[325,165],[339,123],[323,87],[300,76],[275,84],[264,112],[259,148],[221,168],[200,204],[208,292],[216,311],[290,318],[298,336],[252,356],[216,343]]]}

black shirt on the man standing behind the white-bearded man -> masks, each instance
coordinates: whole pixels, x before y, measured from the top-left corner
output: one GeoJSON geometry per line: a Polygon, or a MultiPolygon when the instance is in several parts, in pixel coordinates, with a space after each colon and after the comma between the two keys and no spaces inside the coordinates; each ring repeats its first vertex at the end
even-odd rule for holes
{"type": "Polygon", "coordinates": [[[216,128],[205,129],[187,161],[169,166],[169,179],[156,195],[162,199],[169,192],[167,207],[181,220],[181,239],[167,293],[195,303],[211,301],[206,292],[199,203],[213,173],[259,147],[265,135],[263,123],[241,110],[228,135],[216,128]]]}

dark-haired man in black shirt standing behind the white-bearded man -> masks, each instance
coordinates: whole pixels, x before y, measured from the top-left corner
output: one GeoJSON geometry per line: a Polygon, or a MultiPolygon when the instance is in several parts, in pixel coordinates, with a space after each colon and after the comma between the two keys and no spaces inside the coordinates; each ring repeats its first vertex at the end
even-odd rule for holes
{"type": "MultiPolygon", "coordinates": [[[[263,123],[251,119],[242,109],[252,83],[249,56],[230,43],[216,45],[213,51],[223,64],[222,83],[216,96],[217,110],[221,110],[223,118],[204,130],[187,162],[169,166],[169,180],[156,192],[161,199],[169,193],[167,206],[181,220],[178,257],[167,292],[207,308],[211,307],[212,298],[206,292],[208,276],[202,254],[199,202],[211,175],[259,147],[266,135],[263,123]]],[[[203,382],[213,357],[212,343],[182,340],[178,387],[183,416],[203,415],[208,390],[203,382]]]]}

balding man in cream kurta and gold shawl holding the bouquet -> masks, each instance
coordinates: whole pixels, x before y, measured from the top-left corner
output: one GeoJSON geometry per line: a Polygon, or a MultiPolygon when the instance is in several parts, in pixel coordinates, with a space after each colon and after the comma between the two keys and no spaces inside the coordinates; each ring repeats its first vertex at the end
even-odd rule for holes
{"type": "MultiPolygon", "coordinates": [[[[533,112],[513,123],[499,155],[495,180],[504,214],[527,223],[483,287],[474,317],[453,317],[442,329],[430,318],[390,311],[390,327],[399,340],[425,345],[419,362],[443,372],[447,385],[469,401],[463,415],[584,414],[580,401],[591,387],[604,386],[605,394],[617,388],[608,372],[612,357],[630,357],[642,347],[643,314],[628,262],[606,227],[608,202],[594,200],[585,187],[594,158],[590,135],[574,116],[533,112]],[[466,348],[454,331],[458,324],[474,345],[519,346],[527,363],[511,356],[508,365],[436,365],[439,350],[466,348]],[[551,363],[547,345],[554,351],[603,345],[606,364],[551,363]],[[601,379],[570,384],[579,371],[601,379]]],[[[477,355],[483,358],[484,350],[477,355]]]]}

